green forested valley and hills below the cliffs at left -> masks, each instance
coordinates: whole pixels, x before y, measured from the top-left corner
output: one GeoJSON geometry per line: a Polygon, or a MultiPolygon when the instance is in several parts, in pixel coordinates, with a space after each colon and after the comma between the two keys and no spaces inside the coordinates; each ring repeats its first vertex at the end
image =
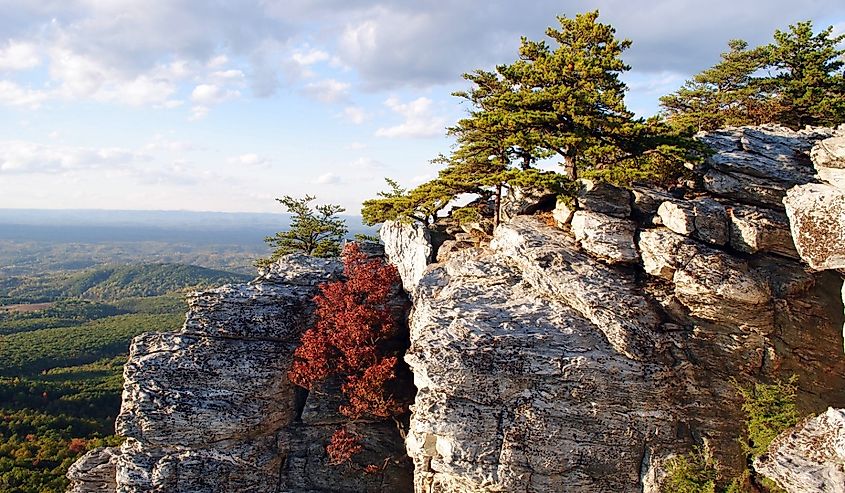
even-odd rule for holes
{"type": "Polygon", "coordinates": [[[180,264],[0,279],[0,491],[63,492],[80,455],[119,443],[132,338],[177,330],[185,290],[246,279],[180,264]]]}

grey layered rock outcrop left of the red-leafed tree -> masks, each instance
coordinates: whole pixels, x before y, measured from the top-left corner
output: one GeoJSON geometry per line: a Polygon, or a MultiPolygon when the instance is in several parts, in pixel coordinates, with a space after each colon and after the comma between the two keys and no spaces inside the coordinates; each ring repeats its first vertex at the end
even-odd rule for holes
{"type": "MultiPolygon", "coordinates": [[[[407,490],[401,462],[379,474],[330,466],[325,446],[339,420],[323,401],[337,399],[306,397],[287,379],[317,286],[340,274],[337,260],[288,256],[249,284],[190,295],[181,331],[135,338],[116,424],[126,440],[77,462],[70,491],[407,490]]],[[[404,455],[392,422],[357,426],[361,460],[404,455]]]]}

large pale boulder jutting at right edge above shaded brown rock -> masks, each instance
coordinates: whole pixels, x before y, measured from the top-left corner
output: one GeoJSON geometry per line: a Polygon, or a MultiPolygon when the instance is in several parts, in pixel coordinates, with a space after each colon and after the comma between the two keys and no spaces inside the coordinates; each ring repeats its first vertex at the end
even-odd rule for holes
{"type": "Polygon", "coordinates": [[[783,203],[801,258],[816,270],[845,268],[845,190],[800,185],[783,203]]]}

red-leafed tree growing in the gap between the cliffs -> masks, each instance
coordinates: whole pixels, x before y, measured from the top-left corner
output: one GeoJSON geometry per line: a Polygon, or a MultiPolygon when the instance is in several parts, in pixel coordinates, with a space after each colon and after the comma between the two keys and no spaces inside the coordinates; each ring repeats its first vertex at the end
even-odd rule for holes
{"type": "MultiPolygon", "coordinates": [[[[402,309],[391,304],[399,275],[354,243],[343,251],[343,266],[345,279],[322,284],[314,298],[316,324],[302,335],[288,377],[307,389],[330,377],[341,378],[347,403],[340,412],[352,420],[400,416],[408,410],[396,381],[402,309]]],[[[357,444],[357,435],[338,430],[328,447],[332,463],[360,451],[357,444]]]]}

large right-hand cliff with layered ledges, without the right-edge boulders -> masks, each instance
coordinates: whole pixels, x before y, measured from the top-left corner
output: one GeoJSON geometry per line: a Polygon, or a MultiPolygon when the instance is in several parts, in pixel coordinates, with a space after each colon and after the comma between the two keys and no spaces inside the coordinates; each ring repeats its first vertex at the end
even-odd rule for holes
{"type": "Polygon", "coordinates": [[[415,491],[657,492],[695,445],[741,474],[735,385],[796,374],[802,411],[845,403],[842,281],[797,259],[780,203],[830,133],[706,136],[706,195],[605,191],[570,229],[518,216],[438,254],[411,281],[415,491]]]}

